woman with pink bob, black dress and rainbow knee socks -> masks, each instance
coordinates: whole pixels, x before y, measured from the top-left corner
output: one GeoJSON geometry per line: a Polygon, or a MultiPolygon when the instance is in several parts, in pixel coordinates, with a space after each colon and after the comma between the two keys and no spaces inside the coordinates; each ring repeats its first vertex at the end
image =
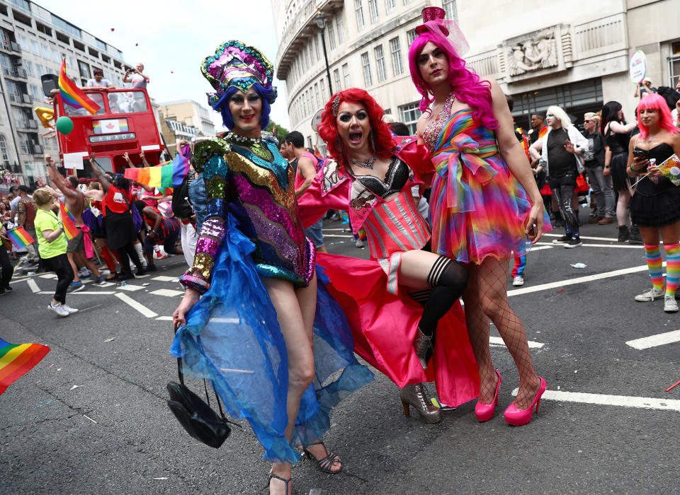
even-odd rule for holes
{"type": "Polygon", "coordinates": [[[680,134],[662,96],[645,95],[638,105],[640,134],[628,144],[625,172],[638,182],[630,201],[630,218],[640,228],[652,289],[635,301],[652,302],[664,298],[664,311],[678,310],[675,291],[680,279],[680,134]],[[659,168],[668,158],[675,163],[659,168]],[[666,289],[662,273],[659,238],[666,251],[666,289]]]}

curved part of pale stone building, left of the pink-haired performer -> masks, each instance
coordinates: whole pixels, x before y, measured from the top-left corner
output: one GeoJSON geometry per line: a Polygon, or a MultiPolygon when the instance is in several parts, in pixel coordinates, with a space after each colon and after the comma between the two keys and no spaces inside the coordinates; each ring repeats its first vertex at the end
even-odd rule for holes
{"type": "MultiPolygon", "coordinates": [[[[314,144],[312,117],[333,92],[370,92],[385,112],[412,132],[420,112],[409,76],[408,47],[425,6],[455,18],[455,0],[272,0],[278,39],[276,76],[285,81],[290,128],[314,144]],[[315,18],[325,18],[323,39],[315,18]],[[330,88],[324,62],[326,44],[330,88]]],[[[321,143],[319,143],[319,147],[321,143]]]]}

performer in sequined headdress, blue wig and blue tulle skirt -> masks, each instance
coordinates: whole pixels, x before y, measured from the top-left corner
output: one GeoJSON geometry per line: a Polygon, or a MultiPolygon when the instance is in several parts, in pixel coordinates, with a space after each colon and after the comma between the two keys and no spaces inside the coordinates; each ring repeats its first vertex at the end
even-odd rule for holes
{"type": "Polygon", "coordinates": [[[273,462],[271,493],[290,493],[295,446],[326,472],[340,458],[320,441],[341,398],[372,380],[353,356],[346,318],[314,270],[297,214],[295,173],[268,123],[273,67],[259,50],[225,42],[201,66],[210,105],[232,132],[200,142],[208,214],[171,351],[212,381],[232,417],[249,421],[273,462]],[[202,295],[202,296],[201,296],[202,295]]]}

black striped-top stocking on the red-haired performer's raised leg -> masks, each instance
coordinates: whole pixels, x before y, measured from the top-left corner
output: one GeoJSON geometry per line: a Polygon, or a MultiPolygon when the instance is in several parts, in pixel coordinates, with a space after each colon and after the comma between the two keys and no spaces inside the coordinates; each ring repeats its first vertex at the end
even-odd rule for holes
{"type": "Polygon", "coordinates": [[[432,291],[425,303],[419,328],[424,334],[433,335],[437,322],[463,295],[467,284],[467,269],[462,264],[441,256],[432,265],[427,283],[432,291]]]}

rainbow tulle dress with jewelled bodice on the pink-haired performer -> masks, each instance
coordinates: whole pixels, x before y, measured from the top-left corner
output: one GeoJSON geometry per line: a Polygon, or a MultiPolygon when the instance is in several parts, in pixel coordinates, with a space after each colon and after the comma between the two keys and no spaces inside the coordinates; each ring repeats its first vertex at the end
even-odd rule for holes
{"type": "MultiPolygon", "coordinates": [[[[464,263],[508,260],[531,246],[526,191],[500,156],[496,136],[472,110],[451,113],[453,94],[423,138],[436,174],[430,194],[432,250],[464,263]]],[[[550,221],[544,212],[544,231],[550,221]]]]}

